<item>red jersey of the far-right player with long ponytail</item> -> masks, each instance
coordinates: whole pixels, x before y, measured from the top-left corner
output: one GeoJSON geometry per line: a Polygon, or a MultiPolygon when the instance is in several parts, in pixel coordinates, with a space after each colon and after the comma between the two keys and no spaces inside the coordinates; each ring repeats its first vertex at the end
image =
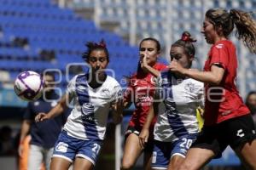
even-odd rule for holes
{"type": "Polygon", "coordinates": [[[236,88],[236,47],[228,41],[219,41],[212,45],[204,71],[211,71],[212,65],[224,68],[224,77],[218,86],[205,83],[205,125],[223,122],[236,116],[249,114],[236,88]]]}

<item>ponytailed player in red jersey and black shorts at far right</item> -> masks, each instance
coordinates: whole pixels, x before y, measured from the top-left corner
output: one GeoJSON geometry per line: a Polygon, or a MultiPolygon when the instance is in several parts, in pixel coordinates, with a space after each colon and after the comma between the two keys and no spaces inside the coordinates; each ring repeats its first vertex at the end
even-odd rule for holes
{"type": "Polygon", "coordinates": [[[200,169],[230,145],[248,169],[256,169],[256,134],[253,119],[236,88],[236,47],[228,40],[234,24],[238,39],[256,54],[256,22],[241,10],[212,8],[206,13],[201,33],[212,44],[204,71],[169,65],[187,77],[205,82],[205,124],[179,170],[200,169]]]}

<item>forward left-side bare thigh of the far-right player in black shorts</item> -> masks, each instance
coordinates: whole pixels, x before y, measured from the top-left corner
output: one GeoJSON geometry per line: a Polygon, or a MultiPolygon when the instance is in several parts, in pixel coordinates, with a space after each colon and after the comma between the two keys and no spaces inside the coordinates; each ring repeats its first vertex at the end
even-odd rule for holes
{"type": "Polygon", "coordinates": [[[190,148],[178,170],[198,170],[204,167],[215,156],[209,149],[190,148]]]}

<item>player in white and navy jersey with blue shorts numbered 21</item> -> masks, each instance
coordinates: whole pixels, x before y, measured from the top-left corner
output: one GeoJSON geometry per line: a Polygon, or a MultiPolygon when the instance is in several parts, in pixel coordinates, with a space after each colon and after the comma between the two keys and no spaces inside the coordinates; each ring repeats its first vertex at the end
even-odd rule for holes
{"type": "Polygon", "coordinates": [[[113,121],[122,118],[122,91],[119,83],[104,69],[109,62],[105,42],[87,43],[83,58],[90,71],[79,74],[69,82],[67,94],[49,113],[39,113],[36,122],[46,121],[61,113],[73,99],[74,107],[55,144],[51,170],[90,170],[102,148],[109,108],[113,107],[113,121]]]}

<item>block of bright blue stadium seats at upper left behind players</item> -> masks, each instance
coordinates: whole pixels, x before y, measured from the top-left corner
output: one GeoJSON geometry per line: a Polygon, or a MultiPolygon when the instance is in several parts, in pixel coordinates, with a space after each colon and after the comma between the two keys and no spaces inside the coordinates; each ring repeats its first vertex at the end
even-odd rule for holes
{"type": "Polygon", "coordinates": [[[93,21],[82,20],[73,14],[72,10],[58,8],[49,0],[3,1],[5,3],[0,6],[0,9],[5,12],[0,12],[0,20],[3,23],[4,38],[9,38],[11,41],[11,38],[26,37],[29,42],[28,50],[9,48],[0,52],[0,54],[8,54],[12,58],[21,59],[19,62],[12,61],[10,65],[3,65],[5,69],[42,71],[47,68],[60,68],[61,71],[65,71],[66,65],[70,62],[84,62],[81,54],[85,50],[85,42],[99,42],[104,39],[111,54],[111,61],[113,61],[109,67],[118,74],[117,77],[122,78],[123,75],[135,70],[131,63],[137,62],[137,48],[129,46],[121,37],[112,32],[96,28],[93,21]],[[43,49],[55,51],[55,64],[40,61],[39,51],[43,49]],[[23,61],[22,56],[28,55],[37,57],[38,61],[35,59],[23,61]],[[122,65],[120,66],[119,63],[122,65]]]}

